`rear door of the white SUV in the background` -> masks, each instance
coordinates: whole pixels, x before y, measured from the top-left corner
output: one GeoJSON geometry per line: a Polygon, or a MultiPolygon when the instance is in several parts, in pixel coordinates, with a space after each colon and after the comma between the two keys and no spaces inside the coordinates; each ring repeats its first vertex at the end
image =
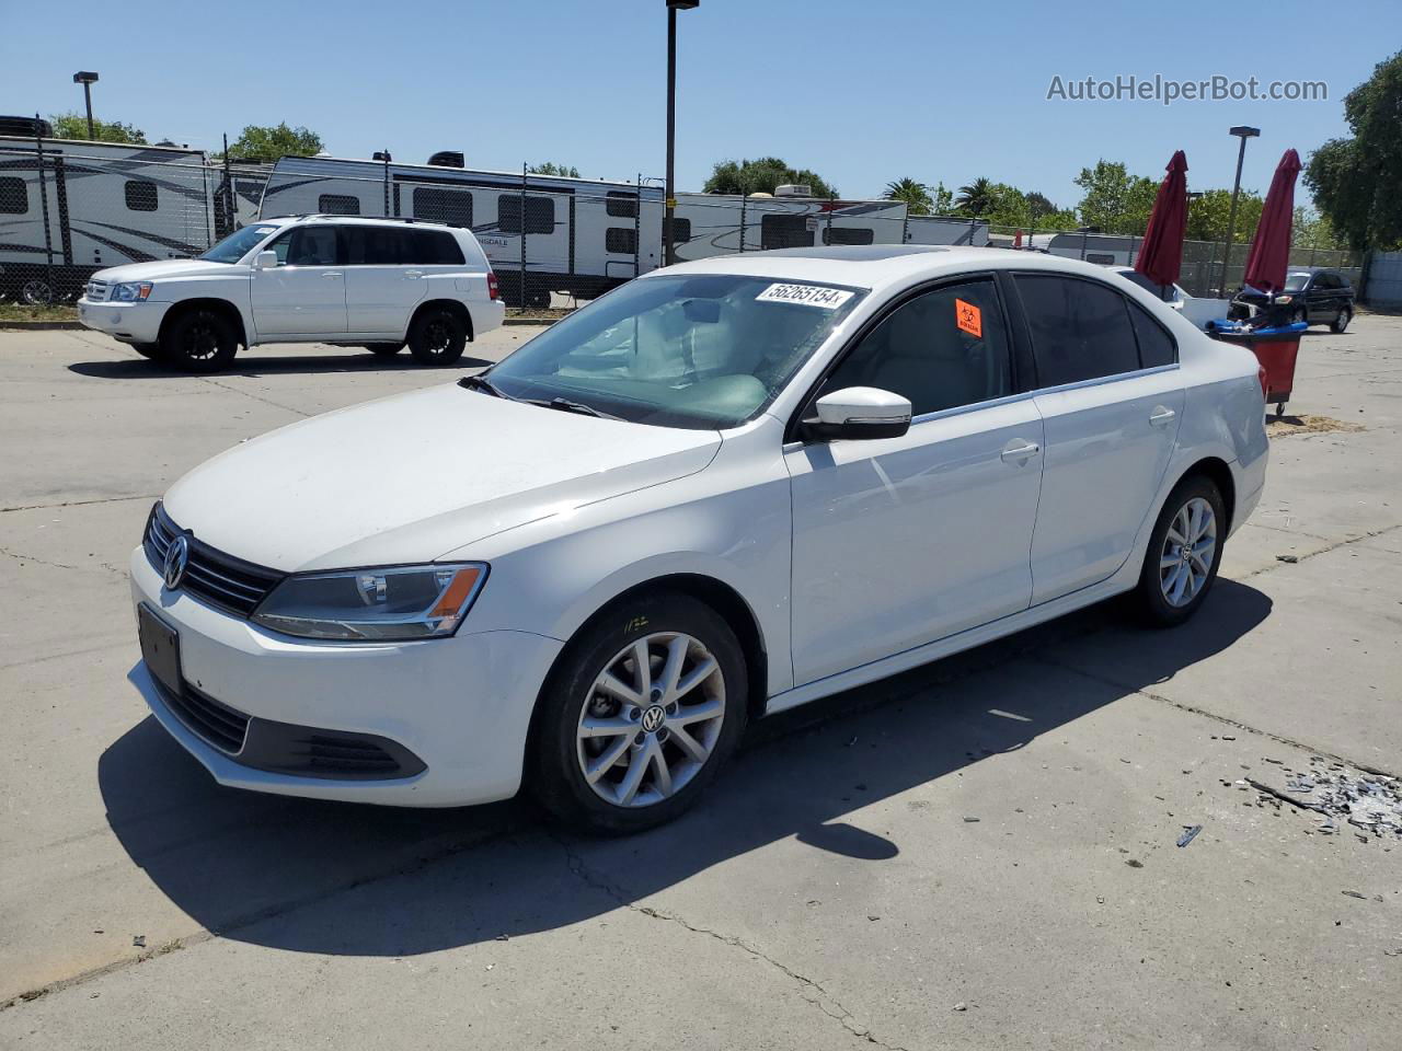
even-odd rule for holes
{"type": "Polygon", "coordinates": [[[415,230],[398,223],[345,226],[341,235],[349,334],[402,339],[409,315],[423,298],[435,258],[421,241],[437,235],[457,242],[443,230],[415,230]]]}

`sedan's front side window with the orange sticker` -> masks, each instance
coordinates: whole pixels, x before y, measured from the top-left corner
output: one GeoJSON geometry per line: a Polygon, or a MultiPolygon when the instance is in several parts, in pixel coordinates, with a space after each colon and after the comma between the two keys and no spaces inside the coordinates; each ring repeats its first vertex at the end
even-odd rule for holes
{"type": "Polygon", "coordinates": [[[916,416],[1012,394],[1008,332],[994,283],[952,284],[897,307],[852,348],[823,392],[844,387],[901,394],[916,416]]]}

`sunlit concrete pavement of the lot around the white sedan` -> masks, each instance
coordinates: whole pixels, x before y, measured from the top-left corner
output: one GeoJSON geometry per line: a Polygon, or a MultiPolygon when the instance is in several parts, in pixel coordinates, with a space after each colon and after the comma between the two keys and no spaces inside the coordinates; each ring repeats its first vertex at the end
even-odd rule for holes
{"type": "Polygon", "coordinates": [[[1388,1045],[1402,842],[1235,782],[1402,774],[1399,353],[1305,339],[1290,409],[1364,430],[1274,441],[1190,625],[1110,604],[767,720],[687,818],[590,841],[220,789],[125,682],[165,485],[457,370],[0,334],[0,1047],[1388,1045]]]}

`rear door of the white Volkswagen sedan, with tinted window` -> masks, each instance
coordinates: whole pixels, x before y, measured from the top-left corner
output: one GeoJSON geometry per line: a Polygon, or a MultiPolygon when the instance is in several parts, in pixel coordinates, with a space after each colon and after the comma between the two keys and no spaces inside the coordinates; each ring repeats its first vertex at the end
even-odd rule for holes
{"type": "Polygon", "coordinates": [[[1172,335],[1088,277],[1016,276],[1046,425],[1032,604],[1089,587],[1130,555],[1178,440],[1185,394],[1172,335]]]}

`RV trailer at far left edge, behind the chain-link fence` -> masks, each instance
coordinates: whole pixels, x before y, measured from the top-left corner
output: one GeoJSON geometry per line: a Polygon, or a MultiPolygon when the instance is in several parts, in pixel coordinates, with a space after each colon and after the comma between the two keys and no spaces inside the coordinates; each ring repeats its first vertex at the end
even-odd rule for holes
{"type": "Polygon", "coordinates": [[[95,270],[215,238],[200,150],[0,136],[0,297],[76,298],[95,270]]]}

